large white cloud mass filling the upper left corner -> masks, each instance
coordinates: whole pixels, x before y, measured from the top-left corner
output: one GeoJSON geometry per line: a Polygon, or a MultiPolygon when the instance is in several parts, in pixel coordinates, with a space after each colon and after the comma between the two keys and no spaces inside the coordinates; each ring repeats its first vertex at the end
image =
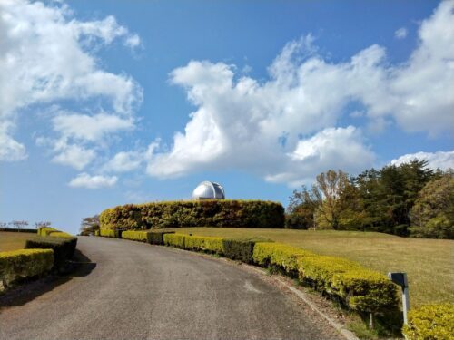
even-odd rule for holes
{"type": "Polygon", "coordinates": [[[15,141],[15,121],[31,112],[25,110],[31,105],[77,102],[86,112],[99,112],[100,107],[108,112],[54,118],[54,127],[77,138],[93,140],[103,134],[94,123],[107,122],[109,131],[130,127],[131,115],[142,102],[142,88],[124,73],[103,70],[95,53],[116,40],[138,46],[137,34],[114,16],[77,20],[68,5],[58,3],[4,0],[0,13],[0,125],[8,126],[0,129],[5,141],[0,143],[0,160],[25,158],[25,146],[15,141]],[[83,126],[70,129],[71,120],[90,126],[85,132],[83,126]]]}

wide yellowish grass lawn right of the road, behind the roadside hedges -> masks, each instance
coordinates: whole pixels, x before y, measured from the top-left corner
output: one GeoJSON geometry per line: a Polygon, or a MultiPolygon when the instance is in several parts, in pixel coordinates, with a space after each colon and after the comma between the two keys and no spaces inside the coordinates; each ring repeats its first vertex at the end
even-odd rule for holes
{"type": "Polygon", "coordinates": [[[322,255],[345,257],[381,273],[409,277],[410,304],[454,303],[454,240],[400,238],[382,233],[246,228],[177,228],[179,233],[270,238],[322,255]]]}

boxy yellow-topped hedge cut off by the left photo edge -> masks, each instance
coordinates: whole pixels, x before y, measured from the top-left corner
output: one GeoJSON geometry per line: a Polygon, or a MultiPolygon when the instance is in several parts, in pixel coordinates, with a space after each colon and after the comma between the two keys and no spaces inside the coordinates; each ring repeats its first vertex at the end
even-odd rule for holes
{"type": "Polygon", "coordinates": [[[52,249],[21,249],[0,252],[0,291],[16,281],[44,275],[54,266],[52,249]]]}

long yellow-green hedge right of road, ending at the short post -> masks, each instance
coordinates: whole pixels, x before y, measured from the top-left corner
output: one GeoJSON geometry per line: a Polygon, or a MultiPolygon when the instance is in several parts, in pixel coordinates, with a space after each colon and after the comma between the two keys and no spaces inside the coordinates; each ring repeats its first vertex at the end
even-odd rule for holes
{"type": "Polygon", "coordinates": [[[280,243],[257,243],[253,261],[278,267],[301,282],[361,313],[399,308],[398,290],[388,277],[341,257],[326,257],[280,243]]]}

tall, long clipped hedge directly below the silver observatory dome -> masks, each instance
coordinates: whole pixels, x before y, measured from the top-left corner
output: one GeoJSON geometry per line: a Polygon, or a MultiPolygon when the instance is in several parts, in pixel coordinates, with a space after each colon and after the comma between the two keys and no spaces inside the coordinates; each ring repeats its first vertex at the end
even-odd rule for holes
{"type": "Polygon", "coordinates": [[[200,200],[127,204],[105,209],[101,229],[183,227],[283,228],[281,203],[263,200],[200,200]]]}

